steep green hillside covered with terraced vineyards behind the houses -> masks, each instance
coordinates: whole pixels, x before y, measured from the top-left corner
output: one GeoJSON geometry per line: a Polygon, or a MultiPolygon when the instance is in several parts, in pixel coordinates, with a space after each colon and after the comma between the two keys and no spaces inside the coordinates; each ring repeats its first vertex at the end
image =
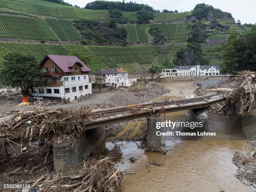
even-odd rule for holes
{"type": "Polygon", "coordinates": [[[136,3],[96,1],[85,8],[59,3],[0,0],[0,60],[8,51],[30,52],[38,60],[45,54],[76,54],[92,71],[123,67],[131,73],[145,73],[151,63],[163,68],[221,64],[219,45],[232,32],[249,28],[235,23],[230,13],[205,4],[161,13],[136,3]],[[151,28],[157,33],[149,32],[151,28]]]}

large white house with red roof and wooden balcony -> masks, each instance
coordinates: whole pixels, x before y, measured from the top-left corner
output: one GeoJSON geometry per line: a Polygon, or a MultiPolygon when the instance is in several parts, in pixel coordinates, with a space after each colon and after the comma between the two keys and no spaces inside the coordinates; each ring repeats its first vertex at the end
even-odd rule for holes
{"type": "Polygon", "coordinates": [[[92,94],[90,69],[77,56],[46,55],[40,63],[45,84],[31,87],[34,97],[73,101],[92,94]]]}

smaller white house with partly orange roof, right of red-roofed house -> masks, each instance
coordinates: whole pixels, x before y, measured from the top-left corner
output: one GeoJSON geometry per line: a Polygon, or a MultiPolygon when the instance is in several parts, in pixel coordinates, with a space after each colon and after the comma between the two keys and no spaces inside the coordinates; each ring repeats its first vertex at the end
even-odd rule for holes
{"type": "Polygon", "coordinates": [[[128,72],[118,67],[113,69],[99,69],[93,73],[95,84],[103,84],[105,87],[131,86],[128,79],[128,72]]]}

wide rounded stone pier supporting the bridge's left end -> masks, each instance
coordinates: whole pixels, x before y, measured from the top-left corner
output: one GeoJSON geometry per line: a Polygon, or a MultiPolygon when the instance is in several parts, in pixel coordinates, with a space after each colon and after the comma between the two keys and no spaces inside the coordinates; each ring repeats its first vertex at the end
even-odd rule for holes
{"type": "Polygon", "coordinates": [[[55,172],[65,173],[76,164],[82,163],[84,156],[100,145],[105,138],[105,128],[99,127],[85,131],[73,140],[61,143],[53,142],[53,159],[55,172]]]}

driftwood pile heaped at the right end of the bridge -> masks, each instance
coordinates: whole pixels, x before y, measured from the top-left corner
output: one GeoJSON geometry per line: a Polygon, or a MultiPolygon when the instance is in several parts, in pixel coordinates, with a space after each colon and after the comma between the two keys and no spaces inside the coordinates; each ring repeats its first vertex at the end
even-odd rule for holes
{"type": "Polygon", "coordinates": [[[228,105],[240,105],[237,115],[247,115],[251,111],[255,97],[256,72],[237,72],[231,79],[219,84],[216,89],[208,89],[208,91],[220,92],[227,98],[225,105],[220,106],[216,112],[223,113],[222,110],[228,105]]]}

